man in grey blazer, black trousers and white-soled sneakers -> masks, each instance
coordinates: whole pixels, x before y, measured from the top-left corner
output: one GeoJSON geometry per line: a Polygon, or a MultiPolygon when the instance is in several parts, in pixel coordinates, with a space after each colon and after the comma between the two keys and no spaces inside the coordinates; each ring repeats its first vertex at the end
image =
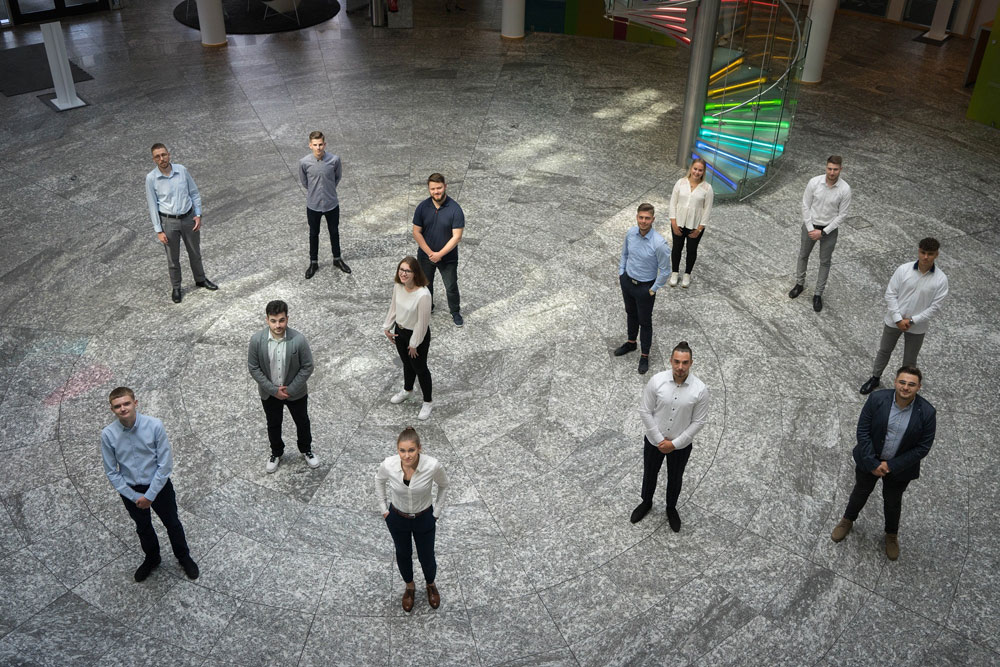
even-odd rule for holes
{"type": "Polygon", "coordinates": [[[285,407],[292,415],[298,436],[299,451],[310,468],[319,467],[312,452],[312,430],[309,425],[309,389],[306,380],[312,375],[312,351],[306,337],[288,328],[288,304],[271,301],[264,309],[267,328],[250,338],[247,368],[257,382],[260,402],[267,418],[267,439],[271,442],[271,458],[266,470],[278,469],[285,443],[281,439],[281,421],[285,407]]]}

